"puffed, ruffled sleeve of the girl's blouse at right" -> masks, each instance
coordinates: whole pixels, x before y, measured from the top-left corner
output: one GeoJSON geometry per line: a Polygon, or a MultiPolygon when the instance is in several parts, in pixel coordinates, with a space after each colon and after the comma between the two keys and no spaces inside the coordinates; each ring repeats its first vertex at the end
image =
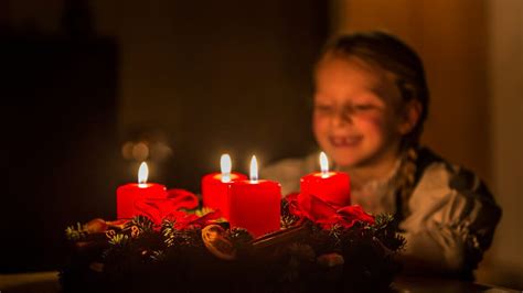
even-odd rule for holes
{"type": "Polygon", "coordinates": [[[471,172],[433,163],[399,224],[407,240],[406,269],[471,275],[492,242],[501,217],[485,185],[471,172]]]}

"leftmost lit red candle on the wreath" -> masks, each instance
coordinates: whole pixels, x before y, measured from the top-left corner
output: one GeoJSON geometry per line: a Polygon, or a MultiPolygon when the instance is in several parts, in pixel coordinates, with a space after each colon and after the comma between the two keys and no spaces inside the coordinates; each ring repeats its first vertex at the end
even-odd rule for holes
{"type": "Polygon", "coordinates": [[[149,170],[146,162],[138,171],[138,183],[129,183],[116,191],[116,214],[118,219],[129,219],[138,216],[135,202],[142,198],[166,198],[167,188],[157,183],[147,183],[149,170]]]}

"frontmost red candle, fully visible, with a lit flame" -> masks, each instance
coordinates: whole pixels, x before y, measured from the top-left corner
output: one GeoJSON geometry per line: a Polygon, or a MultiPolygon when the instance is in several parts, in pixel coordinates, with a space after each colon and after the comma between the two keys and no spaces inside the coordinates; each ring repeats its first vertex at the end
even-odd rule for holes
{"type": "Polygon", "coordinates": [[[280,229],[281,186],[258,180],[256,156],[250,161],[250,180],[236,181],[230,187],[231,227],[247,229],[254,237],[280,229]]]}

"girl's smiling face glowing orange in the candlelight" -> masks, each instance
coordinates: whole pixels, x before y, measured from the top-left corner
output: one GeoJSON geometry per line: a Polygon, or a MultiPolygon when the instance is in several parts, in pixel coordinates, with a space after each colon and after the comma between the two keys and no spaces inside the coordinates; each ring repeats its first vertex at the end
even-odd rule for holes
{"type": "Polygon", "coordinates": [[[312,129],[341,167],[395,161],[403,134],[402,98],[391,74],[355,57],[325,56],[314,76],[312,129]]]}

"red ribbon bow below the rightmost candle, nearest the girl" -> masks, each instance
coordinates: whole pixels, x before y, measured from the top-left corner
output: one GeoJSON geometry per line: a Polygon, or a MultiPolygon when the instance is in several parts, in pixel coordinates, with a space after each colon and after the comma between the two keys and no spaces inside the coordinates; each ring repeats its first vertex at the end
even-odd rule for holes
{"type": "Polygon", "coordinates": [[[374,224],[374,217],[366,214],[359,205],[335,208],[321,198],[310,194],[289,194],[289,210],[300,218],[308,218],[323,229],[334,225],[351,228],[356,221],[374,224]]]}

